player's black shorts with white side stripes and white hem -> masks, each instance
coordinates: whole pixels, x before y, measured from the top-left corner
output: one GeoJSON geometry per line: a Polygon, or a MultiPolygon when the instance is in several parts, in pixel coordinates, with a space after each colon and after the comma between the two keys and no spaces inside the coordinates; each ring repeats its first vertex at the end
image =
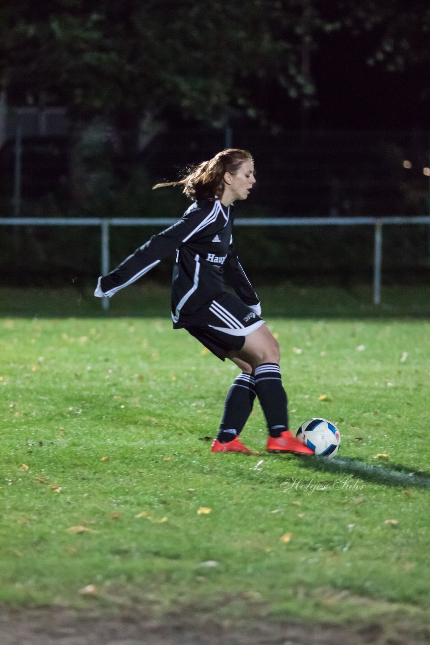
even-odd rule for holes
{"type": "MultiPolygon", "coordinates": [[[[197,323],[197,321],[196,321],[197,323]]],[[[264,320],[235,295],[224,293],[199,313],[197,324],[186,330],[221,361],[231,350],[239,351],[245,337],[264,324],[264,320]]]]}

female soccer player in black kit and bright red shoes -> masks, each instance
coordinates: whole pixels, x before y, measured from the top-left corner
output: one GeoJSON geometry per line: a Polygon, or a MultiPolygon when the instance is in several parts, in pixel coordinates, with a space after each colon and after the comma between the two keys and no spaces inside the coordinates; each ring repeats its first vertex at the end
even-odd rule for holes
{"type": "Polygon", "coordinates": [[[254,161],[246,150],[228,149],[193,168],[182,181],[193,204],[177,223],[153,235],[103,277],[94,295],[112,297],[176,254],[171,290],[175,329],[184,328],[222,361],[242,370],[233,382],[212,452],[251,453],[239,435],[259,398],[268,424],[267,450],[313,454],[288,430],[279,344],[260,317],[259,298],[233,246],[230,206],[246,199],[255,184],[254,161]],[[237,295],[226,289],[230,284],[237,295]]]}

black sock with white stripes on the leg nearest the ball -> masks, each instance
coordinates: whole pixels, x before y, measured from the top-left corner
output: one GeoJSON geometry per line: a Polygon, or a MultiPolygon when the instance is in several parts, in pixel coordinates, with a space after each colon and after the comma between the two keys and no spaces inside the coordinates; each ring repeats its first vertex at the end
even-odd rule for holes
{"type": "Polygon", "coordinates": [[[269,435],[280,437],[288,430],[288,401],[279,365],[263,363],[256,368],[255,392],[266,417],[269,435]]]}

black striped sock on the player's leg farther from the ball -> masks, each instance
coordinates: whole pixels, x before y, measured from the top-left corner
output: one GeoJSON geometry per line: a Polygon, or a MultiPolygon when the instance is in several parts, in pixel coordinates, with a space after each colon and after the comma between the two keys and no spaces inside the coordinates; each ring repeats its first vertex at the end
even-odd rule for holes
{"type": "Polygon", "coordinates": [[[254,399],[254,377],[251,374],[239,374],[228,391],[218,441],[228,443],[242,432],[251,414],[254,399]]]}

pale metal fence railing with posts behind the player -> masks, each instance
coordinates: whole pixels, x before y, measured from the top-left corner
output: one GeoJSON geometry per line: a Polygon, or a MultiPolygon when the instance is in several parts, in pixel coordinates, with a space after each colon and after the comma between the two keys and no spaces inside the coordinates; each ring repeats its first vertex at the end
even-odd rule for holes
{"type": "MultiPolygon", "coordinates": [[[[101,275],[110,270],[111,226],[170,226],[177,219],[171,217],[1,217],[5,226],[100,226],[101,275]]],[[[430,226],[430,215],[411,217],[241,217],[235,226],[373,226],[373,304],[381,303],[382,285],[382,227],[387,224],[430,226]]],[[[103,309],[109,308],[109,299],[102,299],[103,309]]]]}

